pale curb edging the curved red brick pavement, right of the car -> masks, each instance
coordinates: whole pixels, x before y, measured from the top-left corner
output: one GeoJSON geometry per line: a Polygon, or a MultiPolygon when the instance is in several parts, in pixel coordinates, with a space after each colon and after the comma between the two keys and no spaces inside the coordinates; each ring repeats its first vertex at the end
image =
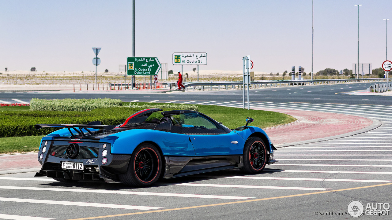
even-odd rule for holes
{"type": "MultiPolygon", "coordinates": [[[[361,116],[361,117],[363,117],[363,116],[361,116]]],[[[361,129],[353,131],[353,132],[343,133],[343,134],[330,136],[330,137],[311,139],[311,140],[306,140],[306,141],[290,142],[290,143],[285,143],[285,144],[281,144],[281,145],[278,144],[278,146],[276,146],[276,145],[274,145],[274,146],[276,148],[283,148],[283,147],[288,147],[288,146],[310,144],[310,143],[314,143],[314,142],[329,141],[329,140],[338,139],[338,138],[342,138],[342,137],[349,137],[352,135],[357,135],[360,133],[365,133],[365,132],[371,131],[373,129],[378,128],[379,126],[381,126],[383,124],[381,121],[376,120],[376,119],[372,119],[372,118],[368,118],[368,117],[363,117],[363,118],[369,119],[369,120],[373,121],[373,123],[371,125],[367,126],[366,128],[361,128],[361,129]]]]}

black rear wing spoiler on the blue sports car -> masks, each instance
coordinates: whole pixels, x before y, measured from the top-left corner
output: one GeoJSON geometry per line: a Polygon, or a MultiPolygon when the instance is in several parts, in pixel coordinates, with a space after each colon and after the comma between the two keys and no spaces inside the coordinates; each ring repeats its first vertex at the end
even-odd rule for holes
{"type": "Polygon", "coordinates": [[[100,121],[93,121],[88,124],[36,124],[34,125],[34,128],[37,130],[45,127],[68,128],[68,131],[69,133],[71,133],[71,136],[75,136],[71,130],[73,129],[76,133],[78,133],[78,135],[83,135],[84,137],[86,135],[85,132],[82,131],[83,129],[86,132],[88,132],[90,135],[94,135],[94,133],[91,130],[89,130],[89,128],[104,129],[105,131],[110,132],[116,126],[102,125],[100,121]]]}

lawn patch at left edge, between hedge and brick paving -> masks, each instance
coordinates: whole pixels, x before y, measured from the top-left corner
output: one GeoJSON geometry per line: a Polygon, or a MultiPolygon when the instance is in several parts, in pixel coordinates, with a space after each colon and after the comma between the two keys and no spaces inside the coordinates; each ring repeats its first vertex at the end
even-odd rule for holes
{"type": "Polygon", "coordinates": [[[0,153],[22,153],[38,151],[43,136],[2,137],[0,138],[0,153]]]}

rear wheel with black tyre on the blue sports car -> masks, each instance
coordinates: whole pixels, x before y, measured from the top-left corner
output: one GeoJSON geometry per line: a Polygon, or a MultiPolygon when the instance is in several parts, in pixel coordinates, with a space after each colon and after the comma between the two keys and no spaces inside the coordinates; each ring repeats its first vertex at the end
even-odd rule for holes
{"type": "Polygon", "coordinates": [[[128,170],[120,180],[134,187],[151,186],[162,173],[162,156],[152,144],[142,144],[132,153],[128,170]]]}

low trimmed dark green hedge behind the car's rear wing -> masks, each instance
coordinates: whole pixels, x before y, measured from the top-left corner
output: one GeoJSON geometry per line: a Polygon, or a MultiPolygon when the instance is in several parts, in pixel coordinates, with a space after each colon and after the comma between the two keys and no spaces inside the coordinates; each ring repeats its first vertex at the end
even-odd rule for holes
{"type": "MultiPolygon", "coordinates": [[[[144,108],[98,108],[89,112],[51,112],[51,111],[4,111],[0,112],[0,137],[46,135],[59,128],[36,130],[35,124],[87,124],[101,121],[105,125],[123,123],[133,113],[144,108]]],[[[176,110],[166,108],[167,110],[176,110]]],[[[154,112],[147,121],[160,119],[160,112],[154,112]]]]}

